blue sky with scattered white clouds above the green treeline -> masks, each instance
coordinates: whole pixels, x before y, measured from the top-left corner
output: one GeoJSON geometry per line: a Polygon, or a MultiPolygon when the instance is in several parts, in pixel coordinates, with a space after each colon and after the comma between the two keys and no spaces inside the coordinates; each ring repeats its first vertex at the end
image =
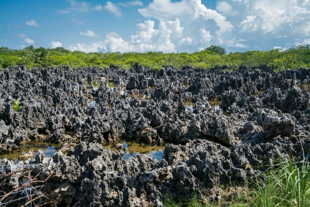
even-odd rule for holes
{"type": "Polygon", "coordinates": [[[2,0],[0,47],[83,52],[285,50],[310,44],[310,0],[2,0]]]}

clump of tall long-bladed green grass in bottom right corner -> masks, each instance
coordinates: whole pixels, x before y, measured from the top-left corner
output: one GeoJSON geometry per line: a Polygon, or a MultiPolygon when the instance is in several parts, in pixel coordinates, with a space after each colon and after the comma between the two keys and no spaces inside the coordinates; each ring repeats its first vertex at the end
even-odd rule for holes
{"type": "Polygon", "coordinates": [[[256,199],[251,206],[310,206],[310,163],[307,160],[281,157],[266,175],[265,186],[260,184],[259,178],[253,181],[256,199]]]}

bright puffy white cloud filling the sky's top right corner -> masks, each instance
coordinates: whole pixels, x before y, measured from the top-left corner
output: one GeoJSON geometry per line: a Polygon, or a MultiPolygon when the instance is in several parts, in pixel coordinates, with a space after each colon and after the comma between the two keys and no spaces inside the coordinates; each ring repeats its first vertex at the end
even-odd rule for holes
{"type": "Polygon", "coordinates": [[[295,0],[248,1],[246,18],[241,21],[242,31],[263,33],[276,31],[303,32],[309,34],[305,23],[310,22],[310,4],[295,0]]]}

